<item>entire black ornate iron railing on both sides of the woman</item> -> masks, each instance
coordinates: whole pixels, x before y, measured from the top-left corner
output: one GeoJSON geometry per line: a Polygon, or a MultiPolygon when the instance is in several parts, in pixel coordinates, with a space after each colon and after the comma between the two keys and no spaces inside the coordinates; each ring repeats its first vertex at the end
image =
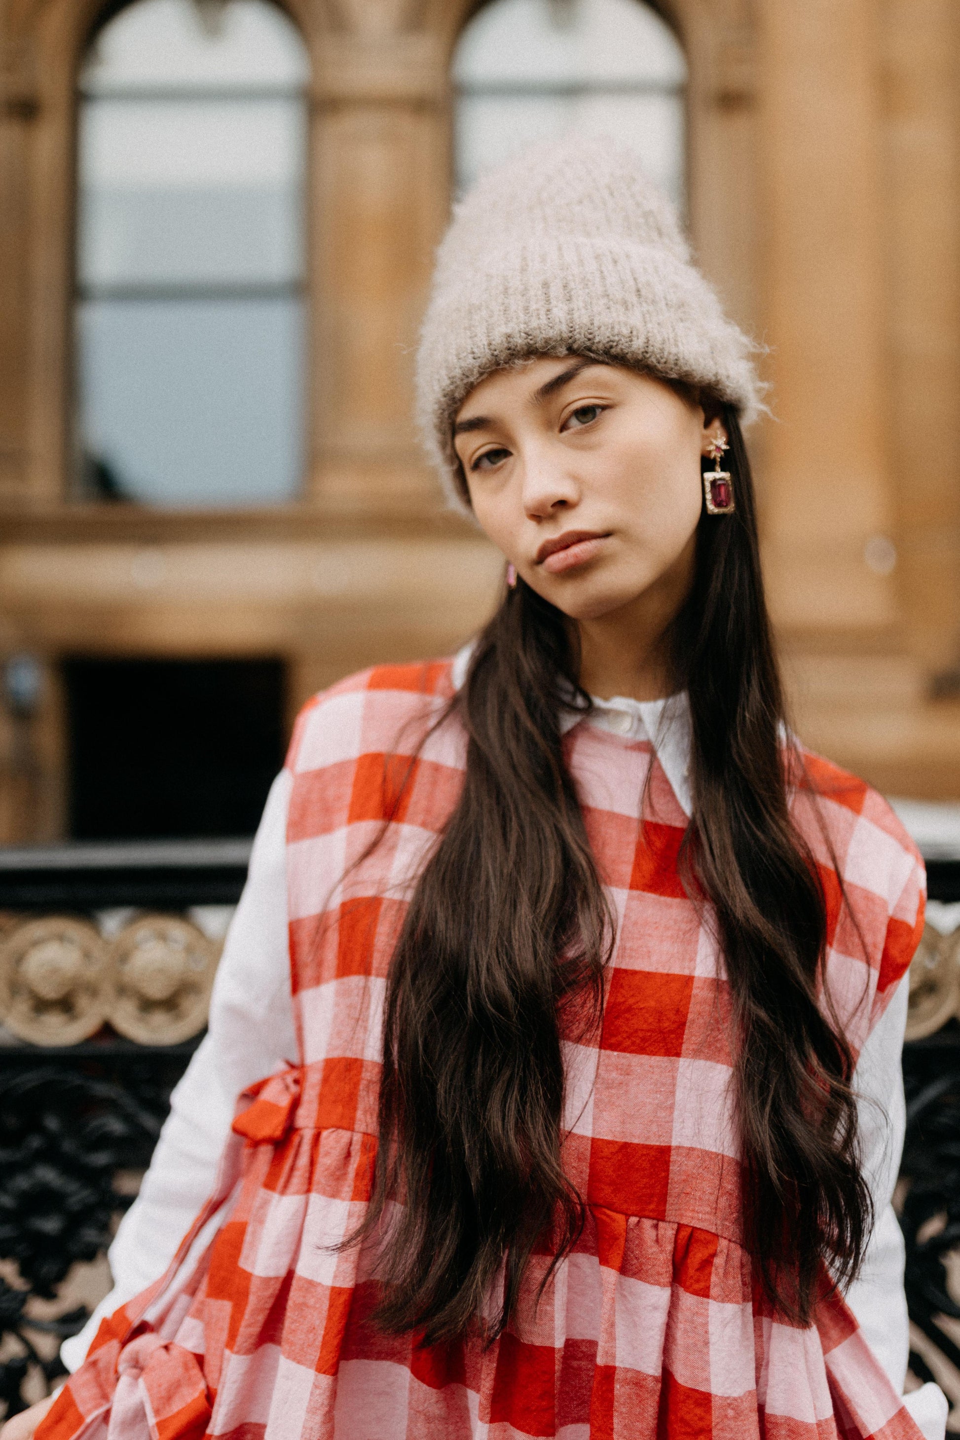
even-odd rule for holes
{"type": "MultiPolygon", "coordinates": [[[[217,936],[248,858],[245,840],[0,850],[7,1414],[63,1374],[59,1345],[89,1315],[72,1302],[71,1277],[102,1257],[150,1164],[170,1092],[200,1043],[217,936]]],[[[960,901],[960,858],[931,860],[928,884],[931,899],[960,901]]],[[[911,1025],[930,1028],[933,1015],[937,1028],[904,1048],[900,1187],[918,1380],[943,1380],[941,1358],[960,1368],[941,1323],[960,1320],[950,1286],[960,1256],[959,1014],[960,933],[928,932],[911,973],[911,1025]]]]}

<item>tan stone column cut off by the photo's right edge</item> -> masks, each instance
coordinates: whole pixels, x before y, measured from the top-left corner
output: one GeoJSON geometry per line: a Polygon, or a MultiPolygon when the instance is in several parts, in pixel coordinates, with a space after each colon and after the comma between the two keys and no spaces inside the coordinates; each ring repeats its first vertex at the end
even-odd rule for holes
{"type": "Polygon", "coordinates": [[[941,670],[960,662],[960,10],[881,10],[898,576],[911,649],[941,670]]]}

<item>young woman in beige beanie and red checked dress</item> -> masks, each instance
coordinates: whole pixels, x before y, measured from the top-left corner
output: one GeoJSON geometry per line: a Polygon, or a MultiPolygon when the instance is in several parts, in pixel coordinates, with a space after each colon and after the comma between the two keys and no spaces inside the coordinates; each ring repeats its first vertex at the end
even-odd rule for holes
{"type": "Polygon", "coordinates": [[[923,864],[784,726],[750,347],[566,141],[458,209],[419,387],[499,608],[301,714],[119,1309],[7,1433],[941,1437],[889,1210],[923,864]]]}

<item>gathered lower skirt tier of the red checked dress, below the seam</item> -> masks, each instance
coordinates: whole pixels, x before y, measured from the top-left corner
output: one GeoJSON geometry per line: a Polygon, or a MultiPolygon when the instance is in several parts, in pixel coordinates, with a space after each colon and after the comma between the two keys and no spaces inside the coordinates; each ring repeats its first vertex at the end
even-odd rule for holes
{"type": "Polygon", "coordinates": [[[245,1175],[213,1244],[154,1306],[144,1414],[173,1418],[190,1372],[209,1407],[196,1434],[217,1440],[914,1440],[839,1296],[792,1325],[735,1241],[600,1205],[540,1297],[548,1256],[534,1257],[492,1345],[384,1335],[376,1241],[338,1248],[364,1214],[373,1138],[301,1128],[298,1090],[296,1071],[275,1077],[236,1122],[245,1175]]]}

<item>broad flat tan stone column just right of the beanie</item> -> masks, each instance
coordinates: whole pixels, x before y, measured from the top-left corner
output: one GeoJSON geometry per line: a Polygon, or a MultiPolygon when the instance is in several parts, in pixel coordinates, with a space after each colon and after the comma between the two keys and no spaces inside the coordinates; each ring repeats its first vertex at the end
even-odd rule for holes
{"type": "MultiPolygon", "coordinates": [[[[875,0],[764,0],[761,328],[776,419],[761,518],[787,634],[897,619],[875,0]]],[[[859,641],[858,641],[859,642],[859,641]]]]}

